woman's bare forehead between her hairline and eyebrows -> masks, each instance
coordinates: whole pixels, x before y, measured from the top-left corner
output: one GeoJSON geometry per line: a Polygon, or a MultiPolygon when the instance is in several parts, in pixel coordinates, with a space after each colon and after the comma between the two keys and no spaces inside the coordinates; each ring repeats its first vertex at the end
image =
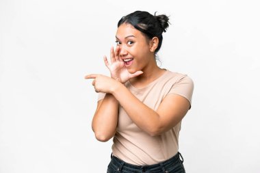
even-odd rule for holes
{"type": "Polygon", "coordinates": [[[119,39],[124,39],[127,36],[135,36],[135,38],[142,37],[142,32],[135,29],[131,24],[123,23],[120,25],[116,31],[116,37],[119,39]]]}

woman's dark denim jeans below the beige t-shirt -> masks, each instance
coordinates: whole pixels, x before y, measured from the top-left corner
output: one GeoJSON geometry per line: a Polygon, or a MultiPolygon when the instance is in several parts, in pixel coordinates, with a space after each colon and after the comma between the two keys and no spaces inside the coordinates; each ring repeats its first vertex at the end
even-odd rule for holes
{"type": "Polygon", "coordinates": [[[183,157],[178,152],[174,157],[154,165],[132,165],[111,155],[107,173],[185,173],[183,157]],[[180,159],[181,157],[181,159],[180,159]]]}

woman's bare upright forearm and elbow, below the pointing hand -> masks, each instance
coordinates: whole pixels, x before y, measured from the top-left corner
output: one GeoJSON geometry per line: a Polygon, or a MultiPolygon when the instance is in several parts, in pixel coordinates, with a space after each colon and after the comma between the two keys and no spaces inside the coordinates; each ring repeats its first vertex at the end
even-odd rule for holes
{"type": "Polygon", "coordinates": [[[118,122],[118,101],[112,94],[105,94],[105,98],[98,102],[92,119],[92,130],[96,139],[107,142],[116,133],[118,122]]]}

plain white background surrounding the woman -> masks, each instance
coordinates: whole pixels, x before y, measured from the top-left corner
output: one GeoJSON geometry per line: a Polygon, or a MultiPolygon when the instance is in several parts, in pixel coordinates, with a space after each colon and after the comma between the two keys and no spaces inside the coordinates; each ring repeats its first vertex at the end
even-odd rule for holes
{"type": "Polygon", "coordinates": [[[189,173],[260,172],[257,1],[0,0],[0,172],[106,172],[112,141],[96,141],[90,73],[118,20],[170,16],[161,67],[194,80],[180,152],[189,173]]]}

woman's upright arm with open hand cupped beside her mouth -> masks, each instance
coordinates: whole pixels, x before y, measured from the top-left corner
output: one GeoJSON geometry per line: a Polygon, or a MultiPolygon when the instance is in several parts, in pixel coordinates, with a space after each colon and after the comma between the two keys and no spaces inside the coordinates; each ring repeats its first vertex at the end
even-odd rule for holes
{"type": "MultiPolygon", "coordinates": [[[[120,48],[117,46],[116,50],[112,47],[110,49],[111,64],[104,57],[104,62],[111,73],[111,78],[125,83],[132,77],[142,74],[142,71],[137,71],[133,74],[129,73],[125,68],[125,62],[119,57],[120,48]]],[[[116,133],[116,126],[118,123],[118,101],[112,94],[105,94],[105,98],[98,102],[96,112],[92,119],[92,130],[94,131],[96,139],[101,142],[107,142],[116,133]]]]}

